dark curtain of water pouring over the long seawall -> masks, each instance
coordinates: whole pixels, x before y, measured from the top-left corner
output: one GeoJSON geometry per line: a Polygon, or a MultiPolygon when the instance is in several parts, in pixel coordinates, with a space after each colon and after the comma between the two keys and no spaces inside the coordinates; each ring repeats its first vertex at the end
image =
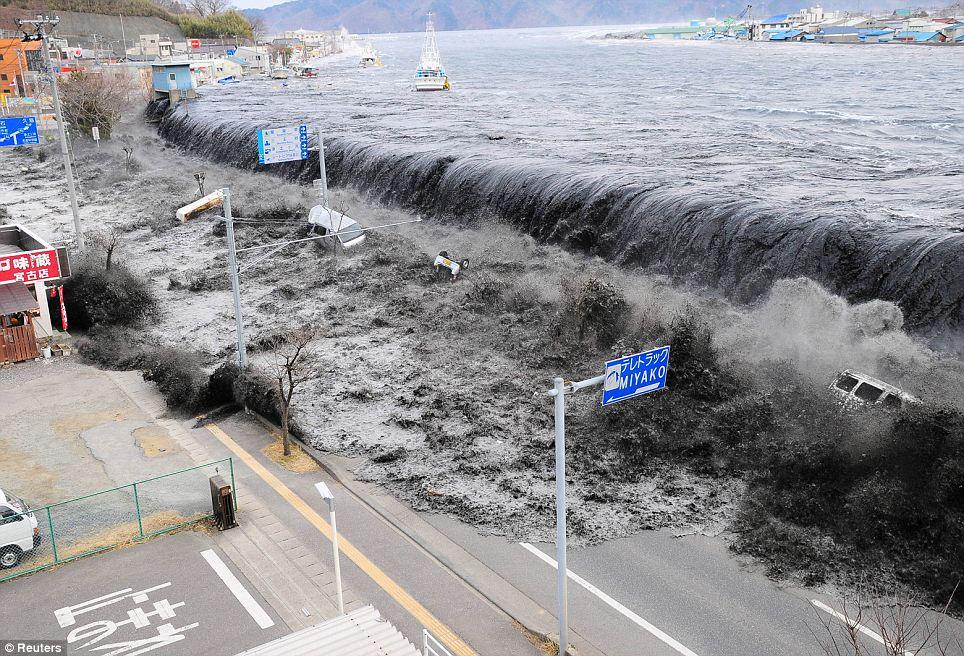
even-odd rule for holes
{"type": "MultiPolygon", "coordinates": [[[[208,158],[258,166],[255,126],[197,119],[155,103],[166,140],[208,158]]],[[[807,276],[851,302],[896,303],[905,326],[956,335],[964,320],[964,232],[882,225],[853,213],[776,208],[712,190],[674,188],[618,169],[445,153],[408,144],[326,142],[329,181],[438,218],[496,216],[537,239],[718,286],[752,301],[780,279],[807,276]]],[[[317,153],[272,171],[317,177],[317,153]]]]}

